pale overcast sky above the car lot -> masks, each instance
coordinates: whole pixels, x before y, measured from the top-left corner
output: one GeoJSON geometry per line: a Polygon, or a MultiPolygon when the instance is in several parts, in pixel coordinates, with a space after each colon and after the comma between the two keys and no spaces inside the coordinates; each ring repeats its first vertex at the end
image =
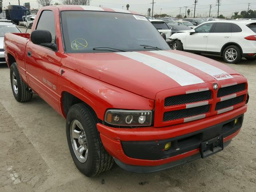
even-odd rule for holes
{"type": "MultiPolygon", "coordinates": [[[[139,12],[141,14],[146,14],[148,8],[152,9],[153,0],[90,0],[90,5],[92,6],[104,6],[110,8],[121,8],[124,6],[126,9],[126,4],[130,5],[129,10],[139,12]]],[[[8,6],[8,4],[18,5],[18,0],[3,0],[3,7],[8,6]]],[[[20,0],[20,5],[25,2],[30,2],[31,8],[38,8],[38,3],[36,0],[20,0]]],[[[61,0],[52,0],[52,4],[55,2],[61,3],[61,0]]],[[[186,8],[193,10],[194,14],[194,0],[154,0],[154,14],[166,13],[172,16],[177,14],[185,14],[186,8]],[[180,9],[181,7],[181,9],[180,9]]],[[[256,0],[220,0],[220,10],[219,14],[230,17],[233,12],[241,12],[242,10],[248,9],[248,3],[250,4],[250,9],[256,10],[256,0]]],[[[216,16],[218,11],[218,6],[216,6],[216,0],[198,0],[196,5],[196,16],[209,16],[210,4],[212,4],[211,15],[216,16]]]]}

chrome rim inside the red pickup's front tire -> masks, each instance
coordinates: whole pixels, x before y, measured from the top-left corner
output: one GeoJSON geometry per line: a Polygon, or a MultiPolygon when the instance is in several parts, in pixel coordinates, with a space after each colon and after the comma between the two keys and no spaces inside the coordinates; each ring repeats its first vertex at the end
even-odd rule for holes
{"type": "Polygon", "coordinates": [[[73,120],[71,122],[70,137],[76,157],[80,162],[86,162],[88,158],[87,140],[84,128],[78,120],[73,120]]]}

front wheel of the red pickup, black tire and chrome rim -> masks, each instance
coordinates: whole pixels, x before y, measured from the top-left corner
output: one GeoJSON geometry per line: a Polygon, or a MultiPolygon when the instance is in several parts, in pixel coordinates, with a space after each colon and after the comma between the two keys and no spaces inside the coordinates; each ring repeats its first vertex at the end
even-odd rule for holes
{"type": "Polygon", "coordinates": [[[114,163],[101,142],[96,123],[96,115],[86,104],[75,104],[68,111],[66,135],[70,154],[78,170],[88,177],[110,170],[114,163]]]}

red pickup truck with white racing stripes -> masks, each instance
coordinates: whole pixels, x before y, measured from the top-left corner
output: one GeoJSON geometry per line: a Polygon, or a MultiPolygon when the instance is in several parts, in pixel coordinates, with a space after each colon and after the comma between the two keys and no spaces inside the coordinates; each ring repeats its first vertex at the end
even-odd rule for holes
{"type": "Polygon", "coordinates": [[[248,83],[228,66],[170,50],[142,15],[46,6],[31,34],[6,34],[14,97],[38,94],[66,118],[71,156],[86,176],[114,162],[164,170],[223,150],[241,129],[248,83]]]}

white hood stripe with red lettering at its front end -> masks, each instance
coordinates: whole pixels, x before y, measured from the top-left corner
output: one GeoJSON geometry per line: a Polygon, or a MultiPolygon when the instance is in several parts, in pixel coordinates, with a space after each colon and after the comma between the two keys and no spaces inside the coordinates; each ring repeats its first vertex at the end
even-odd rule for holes
{"type": "Polygon", "coordinates": [[[197,68],[207,74],[209,74],[210,76],[214,77],[216,80],[223,80],[223,79],[230,79],[233,78],[230,74],[228,74],[227,72],[214,67],[210,64],[207,64],[205,62],[202,62],[200,60],[196,60],[194,58],[190,58],[187,56],[183,56],[180,54],[176,54],[173,52],[168,52],[168,51],[151,51],[153,53],[162,55],[162,56],[166,56],[168,58],[172,58],[175,60],[178,60],[180,62],[186,63],[194,68],[197,68]]]}

